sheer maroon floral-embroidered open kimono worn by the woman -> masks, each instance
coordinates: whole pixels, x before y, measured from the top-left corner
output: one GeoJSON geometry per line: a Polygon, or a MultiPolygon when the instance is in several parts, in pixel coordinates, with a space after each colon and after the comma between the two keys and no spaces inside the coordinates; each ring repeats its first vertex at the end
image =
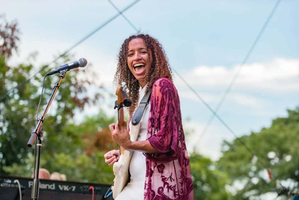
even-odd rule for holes
{"type": "Polygon", "coordinates": [[[193,200],[178,92],[167,78],[152,87],[147,140],[161,153],[146,156],[145,200],[193,200]]]}

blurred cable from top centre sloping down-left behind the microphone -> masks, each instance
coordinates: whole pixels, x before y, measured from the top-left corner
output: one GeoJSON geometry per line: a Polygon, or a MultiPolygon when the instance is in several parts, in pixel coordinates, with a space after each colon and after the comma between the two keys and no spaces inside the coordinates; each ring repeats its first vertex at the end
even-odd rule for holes
{"type": "MultiPolygon", "coordinates": [[[[81,44],[83,41],[85,41],[86,39],[88,39],[89,37],[91,37],[93,34],[95,34],[97,31],[99,31],[100,29],[102,29],[104,26],[106,26],[107,24],[109,24],[112,20],[114,20],[116,17],[118,17],[119,15],[121,15],[123,12],[125,12],[126,10],[128,10],[130,7],[132,7],[134,4],[136,4],[138,1],[140,0],[135,0],[133,3],[129,4],[126,8],[124,8],[123,10],[119,11],[119,13],[117,13],[116,15],[112,16],[110,19],[108,19],[106,22],[104,22],[103,24],[101,24],[99,27],[97,27],[96,29],[94,29],[94,31],[92,31],[91,33],[89,33],[88,35],[86,35],[85,37],[83,37],[81,40],[79,40],[77,43],[75,43],[73,46],[71,46],[69,49],[67,49],[64,53],[62,53],[60,56],[58,56],[57,58],[55,58],[51,63],[56,62],[60,57],[62,57],[63,55],[67,54],[69,51],[71,51],[72,49],[74,49],[76,46],[78,46],[79,44],[81,44]]],[[[12,88],[10,91],[7,92],[6,95],[2,96],[0,99],[0,102],[5,99],[11,92],[14,93],[15,89],[19,89],[20,87],[22,87],[25,83],[27,83],[28,81],[30,81],[32,78],[34,78],[38,73],[40,73],[42,70],[46,69],[50,64],[46,65],[45,67],[43,67],[42,69],[40,69],[38,72],[36,72],[34,75],[32,75],[31,77],[29,77],[28,79],[26,79],[25,81],[23,81],[22,83],[20,83],[19,85],[17,85],[16,87],[12,88]]]]}

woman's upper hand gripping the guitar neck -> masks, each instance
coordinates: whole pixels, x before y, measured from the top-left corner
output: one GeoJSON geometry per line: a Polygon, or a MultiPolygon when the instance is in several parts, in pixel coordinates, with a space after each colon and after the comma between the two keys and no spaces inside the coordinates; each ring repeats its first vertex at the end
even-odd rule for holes
{"type": "Polygon", "coordinates": [[[127,122],[123,122],[123,126],[119,129],[118,121],[109,125],[113,140],[117,142],[124,149],[130,149],[132,144],[129,131],[127,129],[127,122]]]}

